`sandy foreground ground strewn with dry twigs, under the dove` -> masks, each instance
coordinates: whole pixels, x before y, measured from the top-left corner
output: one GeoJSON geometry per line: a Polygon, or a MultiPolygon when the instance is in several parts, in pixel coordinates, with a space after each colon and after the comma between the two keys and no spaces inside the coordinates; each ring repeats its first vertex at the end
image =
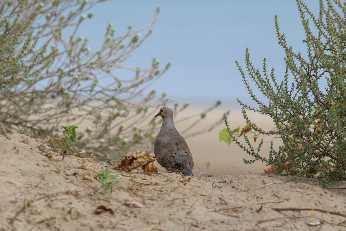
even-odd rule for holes
{"type": "Polygon", "coordinates": [[[106,166],[63,156],[23,134],[0,137],[0,230],[346,230],[346,183],[272,174],[186,177],[118,174],[125,187],[100,190],[106,166]],[[124,200],[145,207],[129,207],[124,200]],[[99,205],[114,214],[96,214],[99,205]],[[309,225],[321,224],[316,226],[309,225]]]}

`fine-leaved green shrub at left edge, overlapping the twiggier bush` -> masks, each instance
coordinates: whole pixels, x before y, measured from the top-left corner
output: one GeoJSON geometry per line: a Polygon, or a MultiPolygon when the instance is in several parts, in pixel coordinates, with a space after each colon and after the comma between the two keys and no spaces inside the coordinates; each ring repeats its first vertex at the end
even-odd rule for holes
{"type": "MultiPolygon", "coordinates": [[[[3,4],[11,3],[3,1],[3,4]]],[[[11,16],[3,16],[3,7],[0,9],[0,129],[6,134],[7,130],[22,124],[22,121],[18,121],[20,115],[28,115],[26,107],[22,107],[23,101],[30,103],[33,100],[32,96],[26,100],[23,100],[23,95],[13,97],[16,89],[30,85],[34,78],[38,78],[40,72],[51,64],[56,50],[52,49],[49,54],[44,48],[35,51],[37,38],[28,30],[31,21],[21,20],[25,10],[24,1],[18,1],[17,10],[11,16]],[[28,57],[31,62],[26,62],[28,57]]]]}

